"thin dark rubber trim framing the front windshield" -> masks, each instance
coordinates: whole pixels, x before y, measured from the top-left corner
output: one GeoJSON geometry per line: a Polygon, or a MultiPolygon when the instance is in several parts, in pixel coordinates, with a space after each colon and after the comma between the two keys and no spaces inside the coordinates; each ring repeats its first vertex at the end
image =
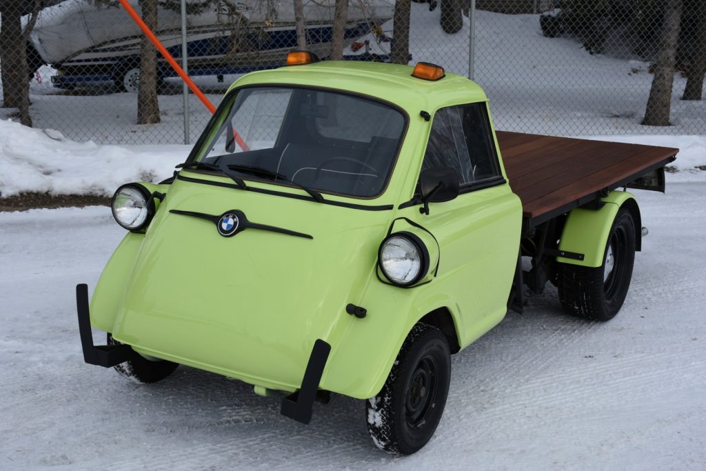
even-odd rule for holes
{"type": "MultiPolygon", "coordinates": [[[[400,160],[400,154],[402,154],[402,146],[405,144],[405,139],[407,138],[407,131],[409,131],[409,113],[407,111],[400,107],[400,105],[396,105],[393,102],[390,102],[388,100],[384,100],[381,97],[376,97],[373,95],[366,95],[365,93],[359,93],[359,92],[354,92],[351,90],[343,90],[340,88],[333,88],[333,87],[321,87],[318,85],[302,85],[300,83],[250,83],[247,85],[241,85],[238,88],[234,88],[233,90],[230,90],[228,93],[226,93],[220,104],[218,105],[215,113],[213,113],[208,120],[208,124],[206,124],[205,128],[203,129],[203,132],[201,133],[201,136],[198,136],[198,140],[196,141],[196,144],[193,145],[193,148],[191,148],[191,152],[189,153],[189,157],[186,158],[186,162],[191,162],[192,160],[196,160],[196,154],[198,153],[198,150],[200,150],[206,140],[206,136],[210,133],[211,129],[213,126],[215,126],[215,122],[217,121],[217,117],[220,115],[223,109],[227,106],[227,102],[231,95],[237,94],[240,90],[245,90],[247,88],[303,88],[304,90],[323,90],[323,91],[328,91],[332,93],[340,93],[341,95],[349,95],[353,97],[360,97],[363,98],[364,100],[370,100],[373,102],[378,102],[381,103],[382,105],[385,105],[387,107],[390,107],[392,109],[395,109],[395,111],[399,112],[402,115],[402,119],[405,120],[405,129],[402,129],[402,133],[400,134],[400,141],[397,143],[397,150],[395,151],[395,158],[393,159],[392,162],[390,162],[390,171],[388,172],[387,179],[385,179],[385,186],[380,190],[380,192],[376,195],[373,196],[354,196],[354,195],[349,195],[349,194],[343,194],[343,193],[332,193],[330,191],[321,191],[319,189],[316,189],[316,191],[319,191],[320,193],[323,194],[330,194],[333,196],[342,196],[344,198],[353,198],[357,200],[373,200],[376,198],[380,198],[383,196],[385,191],[388,190],[388,186],[390,186],[390,181],[393,179],[393,175],[395,174],[395,169],[397,168],[397,162],[400,160]]],[[[197,172],[203,172],[203,170],[197,170],[197,172]]],[[[253,181],[262,181],[261,179],[251,179],[249,180],[253,181]]],[[[279,183],[274,183],[275,185],[280,185],[280,186],[287,186],[287,185],[282,185],[279,183]]]]}

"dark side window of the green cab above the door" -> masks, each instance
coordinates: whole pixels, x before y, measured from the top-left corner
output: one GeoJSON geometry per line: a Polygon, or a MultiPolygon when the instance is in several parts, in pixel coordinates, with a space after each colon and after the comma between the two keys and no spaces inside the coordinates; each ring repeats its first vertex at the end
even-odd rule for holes
{"type": "Polygon", "coordinates": [[[485,103],[439,109],[421,169],[451,167],[461,186],[500,174],[485,103]]]}

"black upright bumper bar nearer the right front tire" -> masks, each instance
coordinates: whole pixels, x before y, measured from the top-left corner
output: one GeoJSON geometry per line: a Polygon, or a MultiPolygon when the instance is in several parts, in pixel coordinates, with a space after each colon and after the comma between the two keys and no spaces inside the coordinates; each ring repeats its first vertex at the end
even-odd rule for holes
{"type": "Polygon", "coordinates": [[[296,393],[282,399],[282,415],[294,419],[302,424],[311,422],[313,415],[313,401],[316,400],[318,385],[321,383],[323,369],[328,361],[331,345],[320,338],[316,339],[311,349],[309,363],[306,364],[301,388],[296,393]]]}

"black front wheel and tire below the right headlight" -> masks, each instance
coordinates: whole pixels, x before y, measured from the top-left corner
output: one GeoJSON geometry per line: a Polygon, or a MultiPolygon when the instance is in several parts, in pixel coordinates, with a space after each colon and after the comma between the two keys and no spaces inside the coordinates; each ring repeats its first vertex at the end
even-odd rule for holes
{"type": "Polygon", "coordinates": [[[451,359],[441,330],[417,324],[385,386],[366,401],[368,431],[384,451],[411,455],[431,439],[446,405],[451,359]]]}

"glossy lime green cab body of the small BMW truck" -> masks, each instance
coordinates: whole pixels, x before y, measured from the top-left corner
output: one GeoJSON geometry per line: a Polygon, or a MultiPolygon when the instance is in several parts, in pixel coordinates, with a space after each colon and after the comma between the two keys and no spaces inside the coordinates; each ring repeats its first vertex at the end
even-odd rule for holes
{"type": "MultiPolygon", "coordinates": [[[[510,186],[464,193],[453,201],[397,209],[419,177],[431,121],[424,110],[486,102],[478,85],[448,73],[439,82],[412,78],[412,67],[325,62],[250,73],[233,87],[290,84],[334,88],[393,102],[409,126],[389,184],[369,200],[325,194],[331,201],[392,205],[359,210],[177,179],[150,191],[167,193],[144,234],[129,233],[108,262],[93,295],[92,324],[150,357],[169,359],[278,390],[299,388],[317,338],[330,343],[321,388],[370,398],[414,323],[450,311],[461,347],[506,312],[520,242],[522,207],[510,186]],[[222,237],[213,222],[169,213],[220,215],[242,210],[249,220],[313,239],[246,229],[222,237]],[[397,220],[427,244],[438,276],[402,289],[376,275],[378,248],[397,220]],[[433,245],[432,245],[433,244],[433,245]],[[359,319],[348,303],[364,306],[359,319]]],[[[198,150],[195,151],[198,155],[198,150]]],[[[502,164],[501,164],[502,168],[502,164]]],[[[232,184],[226,177],[182,169],[184,176],[232,184]]],[[[503,169],[503,176],[504,176],[503,169]]],[[[263,189],[306,195],[289,186],[248,180],[263,189]]]]}

